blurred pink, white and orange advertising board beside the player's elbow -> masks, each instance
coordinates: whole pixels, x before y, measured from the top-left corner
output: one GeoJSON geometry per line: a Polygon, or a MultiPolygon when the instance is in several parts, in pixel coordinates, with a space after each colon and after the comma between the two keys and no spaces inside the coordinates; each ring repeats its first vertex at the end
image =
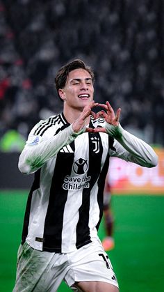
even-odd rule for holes
{"type": "Polygon", "coordinates": [[[110,157],[108,181],[115,194],[164,194],[164,149],[154,148],[158,165],[153,168],[110,157]]]}

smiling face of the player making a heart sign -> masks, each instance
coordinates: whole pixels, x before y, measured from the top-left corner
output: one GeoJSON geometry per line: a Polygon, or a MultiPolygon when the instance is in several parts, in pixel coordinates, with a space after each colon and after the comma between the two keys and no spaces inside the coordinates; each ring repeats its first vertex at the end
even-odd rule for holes
{"type": "Polygon", "coordinates": [[[59,89],[60,97],[68,107],[83,109],[93,100],[94,88],[90,73],[84,69],[69,72],[63,89],[59,89]]]}

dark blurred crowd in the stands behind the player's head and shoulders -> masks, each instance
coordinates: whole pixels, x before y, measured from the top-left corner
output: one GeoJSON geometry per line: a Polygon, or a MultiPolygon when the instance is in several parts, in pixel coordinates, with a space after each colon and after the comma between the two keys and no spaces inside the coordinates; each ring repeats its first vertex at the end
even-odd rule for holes
{"type": "Polygon", "coordinates": [[[62,110],[54,77],[81,58],[95,100],[122,108],[121,124],[164,145],[163,0],[0,0],[0,139],[26,140],[62,110]]]}

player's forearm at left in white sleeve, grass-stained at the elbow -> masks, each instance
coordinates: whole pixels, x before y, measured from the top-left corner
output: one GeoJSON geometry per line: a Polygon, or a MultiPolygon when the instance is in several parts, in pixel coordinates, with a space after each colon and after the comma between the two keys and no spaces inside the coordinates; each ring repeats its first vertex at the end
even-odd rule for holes
{"type": "Polygon", "coordinates": [[[51,137],[35,146],[24,147],[20,157],[18,167],[23,174],[31,174],[54,157],[63,146],[70,144],[79,133],[74,133],[72,125],[65,128],[58,135],[51,137]]]}

